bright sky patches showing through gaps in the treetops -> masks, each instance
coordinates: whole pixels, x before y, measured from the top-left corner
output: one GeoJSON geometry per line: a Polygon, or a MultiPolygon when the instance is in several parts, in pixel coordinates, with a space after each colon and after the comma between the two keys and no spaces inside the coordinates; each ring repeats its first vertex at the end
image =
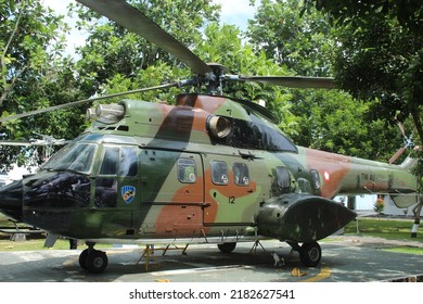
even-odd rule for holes
{"type": "MultiPolygon", "coordinates": [[[[247,20],[253,18],[255,8],[249,5],[249,0],[213,0],[216,3],[221,4],[220,18],[222,23],[234,24],[242,30],[246,29],[247,20]]],[[[74,0],[42,0],[44,5],[50,7],[59,14],[66,15],[67,5],[74,0]]],[[[75,24],[70,17],[66,16],[66,22],[72,27],[75,24]]],[[[72,30],[67,37],[67,52],[72,53],[76,47],[82,46],[85,42],[82,33],[77,29],[72,30]]]]}

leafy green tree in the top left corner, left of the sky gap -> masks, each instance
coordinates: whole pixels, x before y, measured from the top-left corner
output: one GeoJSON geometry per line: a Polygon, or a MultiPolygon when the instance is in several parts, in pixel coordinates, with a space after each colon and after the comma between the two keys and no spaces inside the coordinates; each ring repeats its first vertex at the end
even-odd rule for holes
{"type": "Polygon", "coordinates": [[[62,47],[55,37],[61,20],[50,13],[38,1],[1,1],[0,106],[22,84],[46,74],[51,56],[44,46],[51,45],[53,53],[62,47]]]}

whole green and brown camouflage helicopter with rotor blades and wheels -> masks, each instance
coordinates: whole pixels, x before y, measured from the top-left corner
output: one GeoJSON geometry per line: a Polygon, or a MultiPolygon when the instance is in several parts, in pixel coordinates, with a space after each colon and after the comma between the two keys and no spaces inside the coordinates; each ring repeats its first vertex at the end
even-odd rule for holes
{"type": "MultiPolygon", "coordinates": [[[[123,0],[78,2],[156,43],[195,74],[158,89],[207,87],[206,93],[178,96],[176,105],[124,99],[89,109],[89,129],[37,174],[0,189],[0,211],[49,231],[48,241],[85,240],[81,268],[106,268],[98,242],[177,240],[216,243],[229,253],[238,242],[260,239],[289,243],[313,267],[322,256],[318,241],[356,217],[335,195],[383,192],[398,206],[415,203],[413,160],[393,165],[295,145],[267,109],[222,94],[226,81],[329,89],[331,78],[227,75],[123,0]]],[[[141,90],[151,89],[157,87],[141,90]]]]}

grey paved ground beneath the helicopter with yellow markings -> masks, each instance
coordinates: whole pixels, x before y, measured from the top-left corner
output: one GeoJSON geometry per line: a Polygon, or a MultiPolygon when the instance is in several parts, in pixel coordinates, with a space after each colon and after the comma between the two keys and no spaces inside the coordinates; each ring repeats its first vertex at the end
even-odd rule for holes
{"type": "MultiPolygon", "coordinates": [[[[262,241],[252,251],[252,243],[238,244],[230,254],[216,245],[190,245],[179,250],[155,251],[146,265],[142,249],[110,248],[108,267],[92,275],[79,267],[80,250],[42,250],[0,253],[1,282],[366,282],[418,280],[423,277],[423,256],[388,252],[398,245],[423,246],[412,240],[387,241],[379,238],[335,236],[321,242],[322,259],[316,268],[305,268],[298,254],[279,241],[262,241]],[[274,266],[275,252],[284,265],[274,266]],[[139,263],[138,263],[139,262],[139,263]],[[146,269],[148,268],[148,269],[146,269]],[[294,274],[294,275],[293,275],[294,274]],[[300,275],[300,276],[297,276],[300,275]]],[[[157,249],[157,246],[156,246],[157,249]]]]}

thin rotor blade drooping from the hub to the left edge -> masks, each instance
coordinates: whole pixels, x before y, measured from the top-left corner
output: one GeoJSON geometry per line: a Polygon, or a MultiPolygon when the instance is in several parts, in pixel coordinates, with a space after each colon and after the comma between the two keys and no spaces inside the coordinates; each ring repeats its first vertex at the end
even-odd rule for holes
{"type": "Polygon", "coordinates": [[[21,114],[3,117],[3,118],[0,118],[0,123],[10,122],[10,121],[18,119],[18,118],[23,118],[23,117],[28,117],[28,116],[33,116],[33,115],[37,115],[37,114],[41,114],[41,113],[52,112],[52,111],[55,111],[55,110],[62,110],[62,109],[65,109],[65,107],[79,105],[79,104],[82,104],[82,103],[86,103],[86,102],[103,100],[103,99],[107,99],[107,98],[115,98],[115,97],[120,97],[120,96],[126,96],[126,94],[131,94],[131,93],[145,92],[145,91],[151,91],[151,90],[158,90],[158,89],[166,89],[166,88],[171,88],[171,87],[178,87],[179,85],[180,85],[180,83],[170,83],[170,84],[156,86],[156,87],[150,87],[150,88],[137,89],[137,90],[131,90],[131,91],[126,91],[126,92],[120,92],[120,93],[114,93],[114,94],[107,94],[107,96],[102,96],[102,97],[82,99],[82,100],[73,101],[73,102],[68,102],[68,103],[64,103],[64,104],[49,106],[49,107],[46,107],[46,109],[35,110],[35,111],[30,111],[30,112],[25,112],[25,113],[21,113],[21,114]]]}

